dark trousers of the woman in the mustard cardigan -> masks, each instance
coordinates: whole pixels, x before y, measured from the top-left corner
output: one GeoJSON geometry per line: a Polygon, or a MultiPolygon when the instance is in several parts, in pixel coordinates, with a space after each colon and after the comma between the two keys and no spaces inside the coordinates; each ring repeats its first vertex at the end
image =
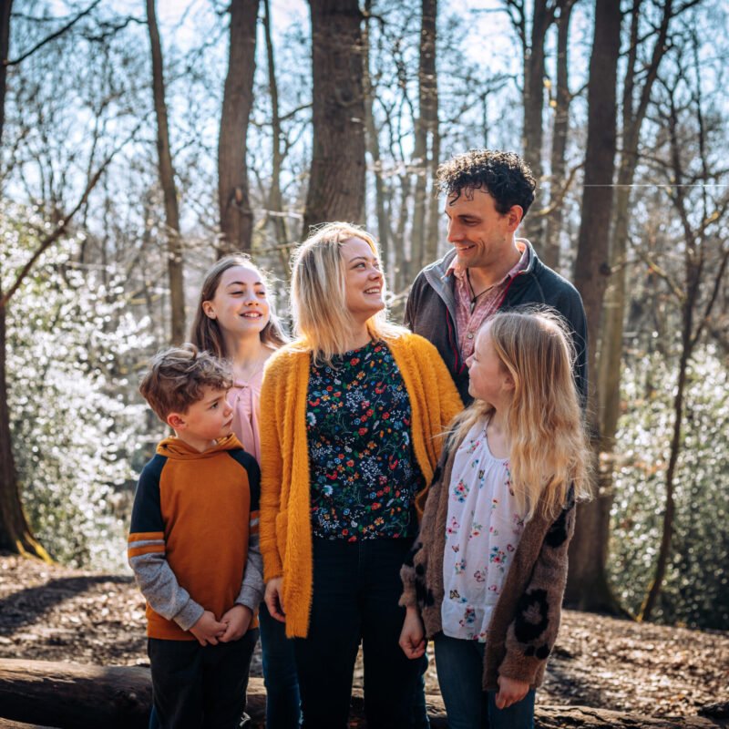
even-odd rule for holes
{"type": "Polygon", "coordinates": [[[405,619],[400,567],[410,542],[313,539],[309,633],[294,640],[305,729],[346,729],[360,642],[367,726],[410,724],[421,663],[397,644],[405,619]]]}

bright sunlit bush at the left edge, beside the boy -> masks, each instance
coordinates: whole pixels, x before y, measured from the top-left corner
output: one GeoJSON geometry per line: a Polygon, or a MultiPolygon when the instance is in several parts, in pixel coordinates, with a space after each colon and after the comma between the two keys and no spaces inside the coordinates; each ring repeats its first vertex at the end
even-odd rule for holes
{"type": "MultiPolygon", "coordinates": [[[[27,232],[33,228],[46,226],[26,209],[0,210],[4,289],[37,246],[27,232]]],[[[11,431],[36,537],[67,564],[119,568],[134,478],[129,463],[147,422],[144,408],[129,403],[134,388],[125,363],[148,343],[124,313],[114,272],[74,265],[77,245],[56,243],[10,303],[11,431]]]]}

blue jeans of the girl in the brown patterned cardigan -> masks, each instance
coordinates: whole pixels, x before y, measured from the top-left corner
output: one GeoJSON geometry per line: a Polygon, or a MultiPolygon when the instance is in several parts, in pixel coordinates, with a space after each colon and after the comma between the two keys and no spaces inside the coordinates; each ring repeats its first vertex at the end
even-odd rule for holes
{"type": "Polygon", "coordinates": [[[437,633],[436,669],[449,729],[533,729],[534,689],[506,709],[496,706],[496,692],[483,691],[484,643],[437,633]]]}

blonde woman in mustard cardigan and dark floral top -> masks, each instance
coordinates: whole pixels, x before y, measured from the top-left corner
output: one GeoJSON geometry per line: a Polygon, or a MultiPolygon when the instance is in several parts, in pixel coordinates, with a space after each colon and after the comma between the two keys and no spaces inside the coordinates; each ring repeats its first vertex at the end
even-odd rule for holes
{"type": "Polygon", "coordinates": [[[292,308],[261,393],[266,604],[295,639],[304,727],[345,729],[360,642],[368,725],[403,727],[419,666],[397,645],[399,569],[462,405],[435,347],[387,322],[366,231],[303,242],[292,308]]]}

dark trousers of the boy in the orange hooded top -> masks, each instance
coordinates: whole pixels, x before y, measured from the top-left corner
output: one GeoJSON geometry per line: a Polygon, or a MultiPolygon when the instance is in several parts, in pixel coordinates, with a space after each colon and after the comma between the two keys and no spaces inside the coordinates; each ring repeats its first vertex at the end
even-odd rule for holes
{"type": "Polygon", "coordinates": [[[152,720],[161,729],[235,729],[257,640],[258,629],[240,641],[206,646],[149,638],[152,720]]]}

